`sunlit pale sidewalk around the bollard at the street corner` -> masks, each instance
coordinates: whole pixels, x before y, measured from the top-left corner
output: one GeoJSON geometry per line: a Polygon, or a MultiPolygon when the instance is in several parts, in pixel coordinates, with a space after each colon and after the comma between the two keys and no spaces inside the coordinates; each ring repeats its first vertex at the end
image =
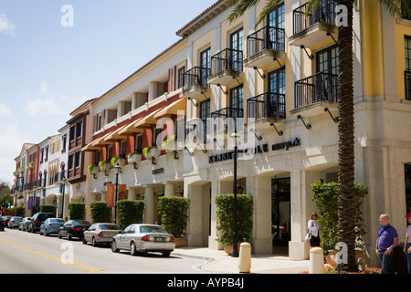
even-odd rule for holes
{"type": "MultiPolygon", "coordinates": [[[[195,268],[215,274],[239,274],[238,257],[227,255],[224,250],[207,247],[179,247],[172,255],[202,259],[205,263],[195,268]]],[[[308,271],[309,260],[293,260],[286,255],[251,255],[251,274],[298,274],[308,271]]]]}

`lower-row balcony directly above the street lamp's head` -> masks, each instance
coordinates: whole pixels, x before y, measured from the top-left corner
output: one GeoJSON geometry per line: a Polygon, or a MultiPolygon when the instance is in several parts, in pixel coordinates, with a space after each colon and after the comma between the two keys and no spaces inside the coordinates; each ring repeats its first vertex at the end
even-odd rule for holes
{"type": "Polygon", "coordinates": [[[211,122],[213,127],[213,135],[229,134],[234,132],[235,123],[237,123],[237,130],[243,125],[243,109],[224,108],[216,110],[211,113],[211,122]],[[240,120],[237,120],[240,118],[240,120]]]}

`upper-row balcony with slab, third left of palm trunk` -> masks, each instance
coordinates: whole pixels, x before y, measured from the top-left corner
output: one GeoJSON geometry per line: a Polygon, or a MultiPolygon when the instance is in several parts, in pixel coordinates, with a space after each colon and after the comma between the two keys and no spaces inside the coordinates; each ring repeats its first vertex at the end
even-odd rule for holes
{"type": "Polygon", "coordinates": [[[209,84],[227,86],[243,71],[243,51],[226,48],[211,57],[211,76],[209,84]]]}

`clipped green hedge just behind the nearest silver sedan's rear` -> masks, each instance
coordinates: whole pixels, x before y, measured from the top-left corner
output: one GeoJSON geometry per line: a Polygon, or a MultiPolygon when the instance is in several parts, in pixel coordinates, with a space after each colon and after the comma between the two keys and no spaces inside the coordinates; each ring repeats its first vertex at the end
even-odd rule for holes
{"type": "Polygon", "coordinates": [[[157,204],[161,225],[176,238],[184,237],[190,199],[178,196],[160,197],[157,204]]]}

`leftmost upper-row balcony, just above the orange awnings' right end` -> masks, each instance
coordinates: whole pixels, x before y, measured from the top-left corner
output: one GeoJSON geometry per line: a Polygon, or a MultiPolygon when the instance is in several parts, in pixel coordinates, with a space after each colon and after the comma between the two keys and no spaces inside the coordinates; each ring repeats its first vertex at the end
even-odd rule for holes
{"type": "Polygon", "coordinates": [[[210,92],[207,78],[210,76],[210,68],[195,67],[184,73],[183,91],[180,98],[200,99],[210,92]]]}

